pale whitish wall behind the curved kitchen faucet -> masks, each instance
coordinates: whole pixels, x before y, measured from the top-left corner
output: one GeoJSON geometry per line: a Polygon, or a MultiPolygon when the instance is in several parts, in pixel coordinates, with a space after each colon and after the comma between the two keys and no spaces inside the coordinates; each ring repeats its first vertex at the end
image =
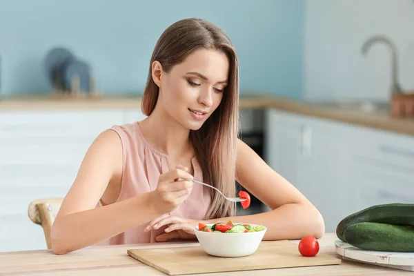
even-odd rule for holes
{"type": "Polygon", "coordinates": [[[397,49],[403,90],[414,90],[414,1],[306,0],[306,50],[303,97],[317,100],[389,101],[391,51],[374,35],[391,39],[397,49]],[[411,31],[407,31],[411,30],[411,31]]]}

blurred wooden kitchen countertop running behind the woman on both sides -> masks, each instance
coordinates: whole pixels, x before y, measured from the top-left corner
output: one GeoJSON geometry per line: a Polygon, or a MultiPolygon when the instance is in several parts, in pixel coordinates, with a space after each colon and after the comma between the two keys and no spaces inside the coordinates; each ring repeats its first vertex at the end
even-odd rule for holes
{"type": "MultiPolygon", "coordinates": [[[[140,108],[140,95],[105,95],[101,99],[52,99],[49,95],[17,95],[0,98],[0,112],[6,110],[53,110],[94,108],[140,108]]],[[[391,117],[386,110],[346,110],[335,105],[312,103],[287,97],[240,95],[240,108],[275,108],[300,115],[307,115],[377,128],[414,136],[414,118],[391,117]]]]}

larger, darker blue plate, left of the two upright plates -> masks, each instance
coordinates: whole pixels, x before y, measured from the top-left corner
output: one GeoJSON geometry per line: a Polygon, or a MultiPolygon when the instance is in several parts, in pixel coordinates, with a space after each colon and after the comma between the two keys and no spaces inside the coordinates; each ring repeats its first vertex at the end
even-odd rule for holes
{"type": "Polygon", "coordinates": [[[63,69],[74,59],[75,55],[63,47],[55,47],[48,51],[44,66],[53,88],[63,90],[63,69]]]}

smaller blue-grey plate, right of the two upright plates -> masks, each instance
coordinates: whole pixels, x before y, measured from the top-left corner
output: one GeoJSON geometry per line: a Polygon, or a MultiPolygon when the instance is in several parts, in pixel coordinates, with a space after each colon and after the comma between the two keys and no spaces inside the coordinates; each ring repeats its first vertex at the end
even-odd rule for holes
{"type": "Polygon", "coordinates": [[[90,75],[88,63],[79,59],[71,60],[63,69],[63,86],[68,91],[79,89],[79,92],[90,92],[90,75]],[[74,79],[78,79],[79,83],[73,83],[74,79]]]}

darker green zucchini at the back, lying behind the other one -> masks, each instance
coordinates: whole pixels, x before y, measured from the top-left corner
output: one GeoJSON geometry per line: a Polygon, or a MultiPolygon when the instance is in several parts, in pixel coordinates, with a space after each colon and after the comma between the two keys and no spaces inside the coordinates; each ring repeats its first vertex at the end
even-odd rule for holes
{"type": "Polygon", "coordinates": [[[344,231],[358,222],[380,222],[400,226],[414,226],[414,204],[380,204],[348,215],[337,225],[337,237],[342,242],[347,242],[344,238],[344,231]]]}

